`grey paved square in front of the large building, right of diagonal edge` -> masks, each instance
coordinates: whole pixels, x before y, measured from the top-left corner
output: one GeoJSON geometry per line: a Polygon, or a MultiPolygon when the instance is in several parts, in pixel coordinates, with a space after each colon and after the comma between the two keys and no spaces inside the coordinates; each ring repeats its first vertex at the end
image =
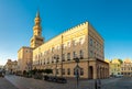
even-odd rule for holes
{"type": "MultiPolygon", "coordinates": [[[[76,79],[68,79],[67,84],[56,84],[18,76],[6,76],[6,79],[19,89],[95,89],[95,80],[79,80],[79,88],[77,88],[76,79]]],[[[132,79],[101,79],[101,89],[132,89],[132,79]]]]}

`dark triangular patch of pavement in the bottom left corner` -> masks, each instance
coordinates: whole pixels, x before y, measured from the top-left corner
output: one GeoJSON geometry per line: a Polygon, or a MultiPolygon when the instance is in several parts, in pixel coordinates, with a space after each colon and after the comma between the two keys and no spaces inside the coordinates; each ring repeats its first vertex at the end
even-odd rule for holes
{"type": "Polygon", "coordinates": [[[9,82],[6,78],[0,77],[0,89],[18,89],[11,82],[9,82]]]}

